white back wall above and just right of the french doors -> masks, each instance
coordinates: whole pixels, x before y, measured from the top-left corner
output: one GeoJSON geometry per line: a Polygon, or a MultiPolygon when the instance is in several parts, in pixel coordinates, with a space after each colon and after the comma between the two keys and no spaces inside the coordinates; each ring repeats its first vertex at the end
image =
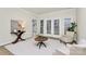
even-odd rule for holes
{"type": "Polygon", "coordinates": [[[39,20],[44,18],[46,21],[46,18],[59,18],[60,20],[60,34],[64,35],[64,18],[72,18],[72,22],[76,22],[76,9],[66,9],[66,10],[61,10],[61,11],[54,11],[54,12],[50,12],[50,13],[45,13],[45,14],[40,14],[39,20]]]}

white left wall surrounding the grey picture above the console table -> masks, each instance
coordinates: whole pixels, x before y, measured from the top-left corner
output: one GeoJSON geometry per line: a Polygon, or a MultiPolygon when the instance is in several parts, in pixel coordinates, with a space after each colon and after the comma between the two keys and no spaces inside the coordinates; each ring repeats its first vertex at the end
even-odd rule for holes
{"type": "MultiPolygon", "coordinates": [[[[5,8],[0,9],[0,40],[1,38],[10,38],[11,36],[11,20],[22,20],[26,22],[26,37],[32,36],[30,20],[36,17],[36,14],[26,12],[22,9],[5,8]]],[[[0,42],[1,43],[1,42],[0,42]]]]}

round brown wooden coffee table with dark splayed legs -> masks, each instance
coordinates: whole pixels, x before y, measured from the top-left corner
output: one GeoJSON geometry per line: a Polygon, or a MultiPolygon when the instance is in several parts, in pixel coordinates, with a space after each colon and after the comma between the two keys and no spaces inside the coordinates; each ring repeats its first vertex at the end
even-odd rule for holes
{"type": "Polygon", "coordinates": [[[44,47],[47,48],[47,46],[46,46],[45,42],[44,42],[44,41],[47,41],[47,40],[48,40],[47,37],[37,36],[37,37],[35,38],[35,40],[38,41],[37,46],[39,47],[39,49],[40,49],[41,46],[44,46],[44,47]]]}

